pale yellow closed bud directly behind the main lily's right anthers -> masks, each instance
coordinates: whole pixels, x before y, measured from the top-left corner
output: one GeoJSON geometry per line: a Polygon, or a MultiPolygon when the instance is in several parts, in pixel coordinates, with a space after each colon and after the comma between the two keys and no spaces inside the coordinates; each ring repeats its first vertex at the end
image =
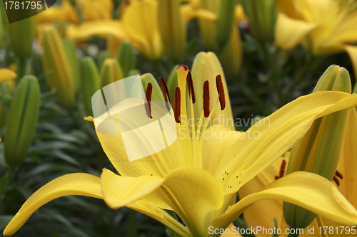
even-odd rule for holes
{"type": "Polygon", "coordinates": [[[191,73],[193,79],[193,87],[195,88],[197,98],[197,102],[193,105],[194,117],[199,118],[201,116],[201,111],[203,110],[202,85],[206,80],[208,80],[210,87],[210,110],[213,109],[213,105],[215,105],[216,100],[218,98],[218,92],[216,90],[216,76],[221,75],[223,90],[225,91],[224,98],[226,100],[226,107],[224,108],[224,110],[219,110],[218,108],[216,108],[216,110],[213,111],[211,121],[213,122],[213,124],[223,125],[229,127],[231,130],[236,130],[233,121],[231,102],[229,100],[226,79],[224,77],[221,63],[219,63],[216,54],[212,52],[198,53],[196,55],[196,58],[193,60],[191,73]]]}

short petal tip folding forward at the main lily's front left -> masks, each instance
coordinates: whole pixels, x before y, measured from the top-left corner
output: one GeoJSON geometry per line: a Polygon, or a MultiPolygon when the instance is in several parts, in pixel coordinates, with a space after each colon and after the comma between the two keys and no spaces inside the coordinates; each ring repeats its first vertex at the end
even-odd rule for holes
{"type": "Polygon", "coordinates": [[[104,201],[112,209],[131,204],[159,188],[164,179],[157,176],[125,177],[103,169],[101,186],[104,201]]]}

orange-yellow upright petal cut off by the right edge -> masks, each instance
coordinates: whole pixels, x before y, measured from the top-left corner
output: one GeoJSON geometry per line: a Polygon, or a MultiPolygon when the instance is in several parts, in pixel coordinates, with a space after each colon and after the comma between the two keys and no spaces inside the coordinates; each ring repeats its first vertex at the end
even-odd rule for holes
{"type": "Polygon", "coordinates": [[[338,190],[357,208],[357,111],[348,110],[345,137],[337,170],[343,174],[338,190]]]}

